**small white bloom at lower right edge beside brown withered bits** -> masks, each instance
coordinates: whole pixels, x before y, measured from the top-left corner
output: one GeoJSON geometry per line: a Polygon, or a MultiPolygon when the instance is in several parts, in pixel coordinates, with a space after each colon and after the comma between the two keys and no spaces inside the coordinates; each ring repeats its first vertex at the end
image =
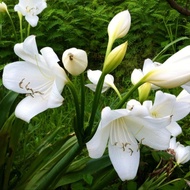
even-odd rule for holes
{"type": "Polygon", "coordinates": [[[176,142],[175,137],[170,140],[168,152],[175,156],[177,164],[185,164],[190,160],[190,146],[185,147],[180,142],[176,142]]]}

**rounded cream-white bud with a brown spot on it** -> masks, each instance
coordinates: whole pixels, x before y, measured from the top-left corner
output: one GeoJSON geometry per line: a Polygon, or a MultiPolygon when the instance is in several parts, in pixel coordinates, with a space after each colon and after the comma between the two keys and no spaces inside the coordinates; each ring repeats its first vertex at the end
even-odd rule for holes
{"type": "Polygon", "coordinates": [[[88,65],[87,54],[84,50],[70,48],[64,51],[62,62],[65,69],[72,75],[80,75],[88,65]]]}

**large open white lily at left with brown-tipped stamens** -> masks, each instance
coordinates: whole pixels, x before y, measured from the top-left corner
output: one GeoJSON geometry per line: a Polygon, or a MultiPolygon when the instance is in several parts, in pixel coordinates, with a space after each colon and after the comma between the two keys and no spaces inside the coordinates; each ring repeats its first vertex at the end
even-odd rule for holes
{"type": "Polygon", "coordinates": [[[67,82],[65,71],[57,63],[57,55],[50,47],[38,53],[35,36],[16,44],[14,51],[24,61],[4,67],[3,85],[27,96],[17,105],[16,117],[29,122],[32,117],[48,108],[62,105],[61,92],[67,82]]]}

